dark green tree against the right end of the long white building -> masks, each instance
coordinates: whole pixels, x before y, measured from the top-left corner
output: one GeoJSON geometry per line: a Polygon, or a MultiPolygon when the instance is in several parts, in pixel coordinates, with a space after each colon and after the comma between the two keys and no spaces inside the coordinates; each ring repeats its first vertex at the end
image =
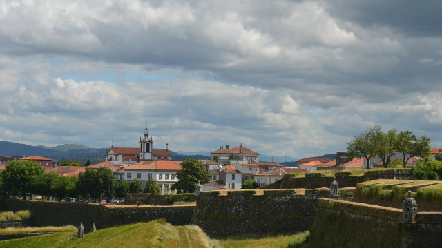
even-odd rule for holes
{"type": "Polygon", "coordinates": [[[182,169],[177,172],[177,183],[172,185],[171,189],[184,190],[186,192],[195,192],[195,186],[198,181],[203,183],[209,183],[210,172],[206,171],[206,167],[198,159],[184,158],[181,163],[182,169]]]}

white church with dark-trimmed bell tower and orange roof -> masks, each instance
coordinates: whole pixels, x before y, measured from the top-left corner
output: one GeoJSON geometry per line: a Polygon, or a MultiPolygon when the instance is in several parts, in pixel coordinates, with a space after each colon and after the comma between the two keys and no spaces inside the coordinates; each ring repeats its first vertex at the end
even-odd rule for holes
{"type": "Polygon", "coordinates": [[[169,151],[169,144],[166,150],[153,150],[153,140],[149,137],[148,128],[144,130],[143,138],[140,137],[140,146],[133,147],[112,147],[106,151],[106,161],[114,163],[137,163],[140,161],[156,161],[160,159],[172,159],[169,151]]]}

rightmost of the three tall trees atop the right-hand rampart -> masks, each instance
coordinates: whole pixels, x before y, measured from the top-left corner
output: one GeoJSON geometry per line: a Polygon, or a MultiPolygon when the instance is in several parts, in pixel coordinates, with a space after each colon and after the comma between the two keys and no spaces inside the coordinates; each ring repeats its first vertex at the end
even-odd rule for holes
{"type": "Polygon", "coordinates": [[[424,158],[430,155],[431,151],[430,138],[425,136],[417,138],[416,135],[410,131],[401,131],[398,134],[394,147],[402,154],[403,167],[407,165],[410,158],[414,156],[424,158]]]}

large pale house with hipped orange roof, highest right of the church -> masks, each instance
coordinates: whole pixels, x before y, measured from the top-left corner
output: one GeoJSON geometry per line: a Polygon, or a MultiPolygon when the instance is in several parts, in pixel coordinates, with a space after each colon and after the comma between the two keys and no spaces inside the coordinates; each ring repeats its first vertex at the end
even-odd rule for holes
{"type": "Polygon", "coordinates": [[[226,145],[226,149],[220,147],[215,152],[211,152],[211,160],[222,163],[223,165],[238,165],[240,163],[255,163],[260,160],[260,154],[253,152],[251,149],[239,147],[230,149],[230,145],[226,145]]]}

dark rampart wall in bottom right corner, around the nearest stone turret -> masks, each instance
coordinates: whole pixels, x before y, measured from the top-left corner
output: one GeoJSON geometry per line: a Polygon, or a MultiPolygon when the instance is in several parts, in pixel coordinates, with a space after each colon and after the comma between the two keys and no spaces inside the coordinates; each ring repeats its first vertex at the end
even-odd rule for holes
{"type": "MultiPolygon", "coordinates": [[[[419,206],[418,206],[419,210],[419,206]]],[[[418,212],[401,223],[402,210],[319,199],[310,240],[320,247],[439,247],[442,212],[418,212]]]]}

